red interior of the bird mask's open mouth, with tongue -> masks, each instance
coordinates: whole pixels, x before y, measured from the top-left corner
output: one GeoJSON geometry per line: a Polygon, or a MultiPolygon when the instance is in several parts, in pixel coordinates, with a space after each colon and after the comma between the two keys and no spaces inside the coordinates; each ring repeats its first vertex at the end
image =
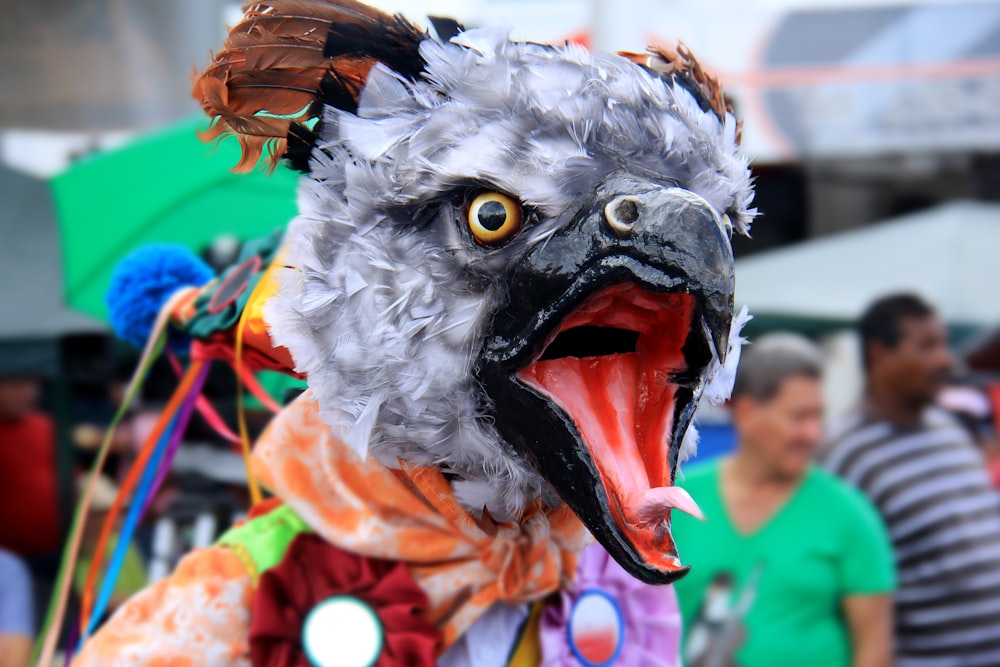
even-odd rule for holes
{"type": "Polygon", "coordinates": [[[664,487],[671,485],[672,378],[687,370],[682,350],[694,306],[690,294],[647,292],[631,284],[608,288],[573,311],[542,358],[518,373],[576,424],[615,522],[643,559],[659,569],[680,568],[668,519],[669,508],[683,502],[672,504],[680,490],[664,487]],[[633,344],[629,332],[634,332],[633,344]],[[588,333],[594,339],[590,349],[580,342],[588,333]],[[577,345],[561,344],[568,339],[577,345]],[[548,358],[556,348],[565,356],[548,358]]]}

